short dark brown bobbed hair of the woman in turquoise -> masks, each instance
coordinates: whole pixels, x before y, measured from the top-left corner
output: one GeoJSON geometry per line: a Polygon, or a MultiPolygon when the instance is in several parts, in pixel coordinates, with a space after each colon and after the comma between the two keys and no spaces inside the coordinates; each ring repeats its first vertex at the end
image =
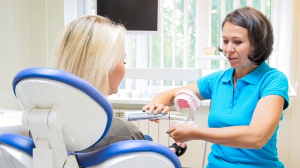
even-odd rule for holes
{"type": "MultiPolygon", "coordinates": [[[[273,50],[274,37],[272,25],[264,14],[246,6],[229,13],[222,23],[222,30],[227,21],[247,29],[253,48],[248,55],[250,61],[260,64],[267,60],[273,50]]],[[[220,47],[218,49],[223,52],[220,47]]]]}

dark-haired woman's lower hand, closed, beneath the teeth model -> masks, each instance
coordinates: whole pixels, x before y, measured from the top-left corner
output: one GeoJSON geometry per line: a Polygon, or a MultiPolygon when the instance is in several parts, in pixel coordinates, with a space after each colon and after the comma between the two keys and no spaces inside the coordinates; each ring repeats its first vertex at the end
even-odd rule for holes
{"type": "Polygon", "coordinates": [[[195,139],[197,127],[188,124],[178,124],[168,130],[169,137],[175,142],[184,143],[195,139]]]}

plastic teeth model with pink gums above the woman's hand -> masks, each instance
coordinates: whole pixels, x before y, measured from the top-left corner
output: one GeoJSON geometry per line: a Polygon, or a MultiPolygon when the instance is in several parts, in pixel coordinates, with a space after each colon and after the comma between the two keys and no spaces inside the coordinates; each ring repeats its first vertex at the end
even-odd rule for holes
{"type": "Polygon", "coordinates": [[[177,111],[180,111],[184,108],[189,108],[188,120],[193,120],[194,112],[196,110],[199,110],[199,108],[201,107],[201,101],[193,92],[185,89],[180,89],[175,94],[174,105],[177,111]]]}

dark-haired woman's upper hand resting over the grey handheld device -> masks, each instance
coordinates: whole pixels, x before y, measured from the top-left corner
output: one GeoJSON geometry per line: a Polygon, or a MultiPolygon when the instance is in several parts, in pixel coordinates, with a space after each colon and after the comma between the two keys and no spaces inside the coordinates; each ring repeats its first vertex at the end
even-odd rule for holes
{"type": "MultiPolygon", "coordinates": [[[[148,115],[157,115],[160,112],[162,112],[162,114],[166,114],[169,112],[169,107],[168,106],[164,106],[163,104],[154,104],[154,103],[149,103],[146,104],[142,107],[142,111],[145,112],[146,110],[148,110],[148,115]]],[[[155,123],[159,123],[159,120],[150,120],[150,121],[154,121],[155,123]]]]}

